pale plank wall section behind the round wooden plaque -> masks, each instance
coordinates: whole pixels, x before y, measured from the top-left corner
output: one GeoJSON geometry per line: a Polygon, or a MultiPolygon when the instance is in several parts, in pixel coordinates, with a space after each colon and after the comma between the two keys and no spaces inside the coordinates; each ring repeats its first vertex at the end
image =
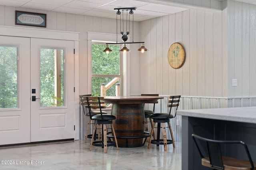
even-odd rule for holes
{"type": "Polygon", "coordinates": [[[141,92],[227,97],[223,20],[222,11],[190,9],[140,22],[140,39],[149,49],[140,57],[141,92]],[[175,42],[186,52],[185,63],[178,69],[168,64],[167,57],[175,42]]]}

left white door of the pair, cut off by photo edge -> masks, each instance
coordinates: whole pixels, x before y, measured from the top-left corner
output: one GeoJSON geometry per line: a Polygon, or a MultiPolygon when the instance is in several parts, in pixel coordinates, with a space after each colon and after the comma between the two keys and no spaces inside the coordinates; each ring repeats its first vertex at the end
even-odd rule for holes
{"type": "Polygon", "coordinates": [[[0,36],[0,145],[30,142],[30,38],[0,36]]]}

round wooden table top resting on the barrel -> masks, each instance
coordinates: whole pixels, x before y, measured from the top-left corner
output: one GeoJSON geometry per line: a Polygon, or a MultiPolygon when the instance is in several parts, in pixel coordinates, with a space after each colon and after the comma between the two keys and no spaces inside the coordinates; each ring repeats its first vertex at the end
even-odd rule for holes
{"type": "Polygon", "coordinates": [[[106,96],[102,100],[112,104],[143,104],[157,103],[158,99],[163,98],[162,96],[106,96]]]}

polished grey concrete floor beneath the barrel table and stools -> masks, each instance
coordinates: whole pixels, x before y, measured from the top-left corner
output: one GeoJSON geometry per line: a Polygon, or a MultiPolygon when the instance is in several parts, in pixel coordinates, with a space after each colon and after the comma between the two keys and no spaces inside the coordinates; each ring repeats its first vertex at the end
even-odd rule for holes
{"type": "Polygon", "coordinates": [[[181,143],[176,148],[157,147],[148,143],[143,147],[104,149],[93,146],[90,139],[0,147],[2,170],[181,170],[181,143]]]}

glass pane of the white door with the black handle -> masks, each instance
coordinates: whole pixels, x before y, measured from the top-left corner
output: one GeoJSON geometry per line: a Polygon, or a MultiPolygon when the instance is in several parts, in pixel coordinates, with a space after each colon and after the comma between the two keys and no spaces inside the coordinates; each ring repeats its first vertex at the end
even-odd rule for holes
{"type": "Polygon", "coordinates": [[[40,49],[40,107],[64,106],[64,49],[40,49]]]}

